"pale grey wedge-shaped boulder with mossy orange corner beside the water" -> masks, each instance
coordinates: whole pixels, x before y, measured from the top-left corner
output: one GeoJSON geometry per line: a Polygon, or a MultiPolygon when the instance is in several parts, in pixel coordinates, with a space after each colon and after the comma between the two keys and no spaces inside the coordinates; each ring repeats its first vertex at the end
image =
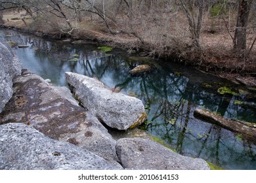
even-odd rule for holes
{"type": "Polygon", "coordinates": [[[66,73],[66,82],[79,101],[109,127],[125,130],[146,120],[144,105],[135,97],[112,92],[95,78],[76,73],[66,73]]]}

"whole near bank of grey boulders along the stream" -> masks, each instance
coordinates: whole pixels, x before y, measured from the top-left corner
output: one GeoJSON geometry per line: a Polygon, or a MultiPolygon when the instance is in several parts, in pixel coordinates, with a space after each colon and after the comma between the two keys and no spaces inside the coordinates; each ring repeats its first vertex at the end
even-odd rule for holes
{"type": "Polygon", "coordinates": [[[140,99],[67,72],[66,82],[80,106],[65,86],[21,69],[6,43],[0,41],[0,50],[0,96],[5,99],[0,103],[0,169],[210,169],[203,159],[182,156],[152,140],[115,140],[108,127],[132,130],[146,120],[140,99]],[[88,105],[88,99],[93,103],[88,105]]]}

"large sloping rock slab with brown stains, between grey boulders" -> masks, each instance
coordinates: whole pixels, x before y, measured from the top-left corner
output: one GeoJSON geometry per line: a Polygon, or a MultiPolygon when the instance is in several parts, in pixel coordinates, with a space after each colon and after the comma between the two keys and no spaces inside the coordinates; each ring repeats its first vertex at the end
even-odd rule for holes
{"type": "Polygon", "coordinates": [[[14,78],[14,95],[0,114],[0,124],[24,123],[60,141],[94,152],[118,165],[116,141],[68,88],[51,86],[29,71],[14,78]]]}

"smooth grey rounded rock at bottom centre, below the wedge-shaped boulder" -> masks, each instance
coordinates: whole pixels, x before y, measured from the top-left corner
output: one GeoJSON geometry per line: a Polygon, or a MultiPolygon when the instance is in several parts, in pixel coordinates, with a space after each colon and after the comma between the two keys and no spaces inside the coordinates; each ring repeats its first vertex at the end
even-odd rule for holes
{"type": "Polygon", "coordinates": [[[158,142],[146,139],[119,139],[116,150],[125,169],[209,170],[203,159],[181,156],[158,142]]]}

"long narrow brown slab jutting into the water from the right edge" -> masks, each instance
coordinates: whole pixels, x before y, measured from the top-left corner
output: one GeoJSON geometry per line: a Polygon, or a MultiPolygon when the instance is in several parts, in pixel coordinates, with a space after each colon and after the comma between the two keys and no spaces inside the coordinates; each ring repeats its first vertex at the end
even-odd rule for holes
{"type": "Polygon", "coordinates": [[[223,118],[223,116],[202,108],[196,108],[194,116],[204,122],[220,125],[224,129],[240,133],[242,138],[256,144],[256,124],[237,120],[228,120],[223,118]]]}

